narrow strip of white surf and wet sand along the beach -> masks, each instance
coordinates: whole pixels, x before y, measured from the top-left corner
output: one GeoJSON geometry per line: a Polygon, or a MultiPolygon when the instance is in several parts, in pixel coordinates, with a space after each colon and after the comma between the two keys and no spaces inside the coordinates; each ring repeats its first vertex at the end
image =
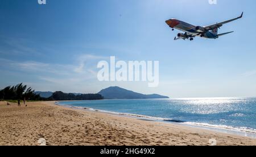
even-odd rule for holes
{"type": "Polygon", "coordinates": [[[226,133],[226,134],[231,134],[231,135],[239,135],[242,137],[250,137],[256,139],[256,134],[251,133],[249,131],[242,131],[238,130],[235,127],[232,126],[222,126],[220,125],[210,125],[208,123],[197,123],[197,122],[185,122],[181,121],[179,119],[168,119],[168,118],[160,118],[160,117],[151,117],[148,115],[139,115],[139,114],[132,114],[132,113],[118,113],[114,111],[107,111],[107,110],[97,110],[93,108],[88,108],[88,107],[77,107],[77,106],[70,106],[70,105],[60,105],[59,102],[72,102],[72,101],[56,101],[55,105],[58,106],[64,106],[66,108],[71,108],[71,109],[79,109],[79,110],[85,110],[85,111],[92,111],[92,112],[98,112],[98,113],[104,113],[104,114],[110,114],[110,115],[115,115],[115,116],[120,116],[120,117],[127,117],[127,118],[134,118],[139,120],[144,120],[144,121],[154,121],[154,122],[162,122],[162,123],[171,123],[174,125],[181,125],[181,126],[187,126],[187,127],[193,127],[196,129],[204,129],[204,130],[209,130],[209,131],[216,131],[218,133],[226,133]]]}

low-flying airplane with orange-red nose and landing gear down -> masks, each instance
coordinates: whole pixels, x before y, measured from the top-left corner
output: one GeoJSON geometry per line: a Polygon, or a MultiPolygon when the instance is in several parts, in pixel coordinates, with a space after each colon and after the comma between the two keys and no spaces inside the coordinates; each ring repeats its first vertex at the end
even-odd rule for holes
{"type": "Polygon", "coordinates": [[[226,20],[224,22],[220,22],[220,23],[216,23],[216,24],[212,24],[212,25],[204,26],[204,27],[193,26],[192,24],[189,24],[189,23],[183,22],[181,20],[177,20],[177,19],[166,20],[166,24],[168,24],[168,26],[172,28],[172,31],[174,31],[174,29],[176,29],[176,30],[185,32],[185,33],[177,34],[177,37],[175,36],[174,40],[178,40],[178,39],[193,40],[193,38],[195,38],[196,36],[200,36],[201,38],[217,39],[220,36],[234,32],[234,31],[231,31],[231,32],[225,32],[223,34],[218,34],[218,28],[223,26],[223,24],[232,22],[237,19],[241,19],[242,16],[243,16],[243,13],[238,18],[226,20]]]}

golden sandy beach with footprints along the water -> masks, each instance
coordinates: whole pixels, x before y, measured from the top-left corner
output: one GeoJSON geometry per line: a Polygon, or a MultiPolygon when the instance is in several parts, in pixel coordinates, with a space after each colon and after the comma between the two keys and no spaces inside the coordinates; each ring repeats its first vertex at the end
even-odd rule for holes
{"type": "Polygon", "coordinates": [[[0,145],[256,145],[256,139],[162,122],[28,102],[0,102],[0,145]]]}

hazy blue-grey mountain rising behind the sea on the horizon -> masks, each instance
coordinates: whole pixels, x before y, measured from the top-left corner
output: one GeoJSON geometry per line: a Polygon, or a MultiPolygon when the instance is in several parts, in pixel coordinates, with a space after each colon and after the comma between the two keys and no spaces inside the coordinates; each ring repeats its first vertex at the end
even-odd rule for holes
{"type": "Polygon", "coordinates": [[[98,94],[104,97],[104,99],[148,99],[148,98],[169,98],[166,96],[160,96],[159,94],[141,94],[131,90],[119,88],[118,86],[111,86],[106,89],[102,89],[98,94]]]}

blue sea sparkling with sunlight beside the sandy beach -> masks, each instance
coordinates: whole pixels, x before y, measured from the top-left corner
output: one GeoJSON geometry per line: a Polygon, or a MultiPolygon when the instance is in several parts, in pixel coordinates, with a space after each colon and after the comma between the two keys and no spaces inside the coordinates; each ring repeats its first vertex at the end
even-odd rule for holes
{"type": "Polygon", "coordinates": [[[62,101],[57,105],[256,138],[254,97],[62,101]]]}

